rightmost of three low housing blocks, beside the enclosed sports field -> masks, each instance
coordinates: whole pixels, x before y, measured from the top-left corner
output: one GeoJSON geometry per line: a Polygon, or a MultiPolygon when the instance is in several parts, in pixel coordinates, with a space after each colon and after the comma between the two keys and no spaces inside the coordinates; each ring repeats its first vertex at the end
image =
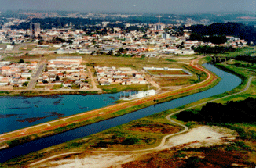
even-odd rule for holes
{"type": "Polygon", "coordinates": [[[94,68],[100,85],[148,84],[148,81],[144,79],[141,73],[131,68],[119,68],[119,70],[115,66],[95,66],[94,68]]]}

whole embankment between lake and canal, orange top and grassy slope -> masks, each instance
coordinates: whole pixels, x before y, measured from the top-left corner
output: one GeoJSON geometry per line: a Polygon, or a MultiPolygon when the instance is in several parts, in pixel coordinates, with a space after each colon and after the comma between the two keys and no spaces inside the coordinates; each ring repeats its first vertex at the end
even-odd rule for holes
{"type": "MultiPolygon", "coordinates": [[[[198,59],[195,60],[198,61],[198,59]]],[[[193,63],[195,62],[193,61],[193,63]]],[[[91,112],[69,116],[60,120],[54,120],[52,122],[44,124],[39,124],[34,127],[16,130],[8,134],[2,134],[0,135],[0,138],[2,138],[2,145],[20,145],[26,141],[35,140],[37,138],[42,138],[53,134],[59,134],[60,132],[75,129],[76,127],[82,127],[90,123],[106,120],[115,116],[123,115],[125,113],[131,113],[133,111],[136,111],[137,109],[143,109],[147,106],[155,105],[160,102],[170,101],[170,99],[183,97],[185,95],[190,95],[195,92],[207,90],[208,88],[213,87],[213,85],[217,83],[217,77],[215,77],[213,73],[204,70],[198,65],[192,66],[196,69],[205,71],[208,75],[207,80],[204,80],[199,84],[188,86],[187,88],[181,88],[176,91],[168,91],[163,94],[155,95],[148,98],[141,98],[132,102],[119,103],[117,105],[93,110],[91,112]],[[213,84],[214,81],[216,83],[213,84]]]]}

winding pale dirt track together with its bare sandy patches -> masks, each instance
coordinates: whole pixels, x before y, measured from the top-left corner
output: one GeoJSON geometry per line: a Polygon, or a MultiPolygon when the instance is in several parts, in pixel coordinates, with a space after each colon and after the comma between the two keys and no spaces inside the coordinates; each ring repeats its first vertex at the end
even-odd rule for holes
{"type": "MultiPolygon", "coordinates": [[[[228,98],[233,95],[239,95],[239,94],[243,93],[244,91],[247,91],[248,88],[250,87],[251,80],[254,78],[255,77],[250,77],[250,79],[248,80],[247,86],[246,86],[246,88],[243,89],[243,91],[240,91],[240,92],[232,94],[232,95],[227,95],[222,98],[228,98]]],[[[208,101],[208,102],[214,102],[214,101],[220,100],[222,98],[216,98],[216,99],[208,101]]],[[[179,110],[176,113],[171,113],[168,116],[166,116],[167,120],[169,120],[171,123],[175,123],[181,127],[184,127],[184,130],[181,130],[180,132],[175,133],[175,134],[166,135],[165,137],[163,137],[160,145],[155,148],[134,150],[134,151],[129,151],[129,152],[127,152],[127,151],[93,151],[93,152],[91,152],[90,151],[90,153],[92,153],[92,155],[88,155],[86,158],[78,159],[78,157],[77,157],[75,160],[74,159],[69,159],[69,160],[66,159],[63,162],[58,162],[57,164],[59,166],[57,166],[57,167],[76,166],[76,163],[78,163],[78,162],[79,162],[79,164],[81,164],[82,167],[109,167],[109,166],[118,167],[119,164],[128,163],[128,162],[136,159],[137,156],[145,155],[148,152],[149,153],[157,152],[157,151],[164,150],[166,148],[184,146],[184,144],[191,146],[191,147],[221,145],[224,143],[224,141],[223,141],[224,139],[225,139],[225,141],[233,140],[236,137],[236,132],[233,130],[229,130],[224,127],[203,126],[203,127],[194,128],[188,132],[188,127],[170,119],[171,116],[174,116],[175,114],[180,113],[181,111],[184,111],[187,109],[192,109],[192,108],[195,108],[196,106],[204,105],[206,103],[207,102],[203,102],[198,105],[193,105],[191,107],[179,110]],[[188,133],[183,134],[185,132],[188,132],[188,133]],[[177,135],[177,136],[175,136],[175,135],[177,135]],[[173,136],[175,136],[175,137],[170,138],[173,136]],[[166,139],[168,139],[168,138],[170,138],[170,139],[168,141],[166,141],[166,139]],[[95,153],[97,153],[97,155],[95,155],[95,153]],[[116,154],[118,154],[118,155],[116,155],[116,154]],[[112,160],[112,162],[108,162],[109,160],[112,160]],[[106,165],[106,162],[108,162],[108,165],[106,165]],[[94,165],[93,165],[93,163],[94,163],[94,165]]],[[[74,154],[79,154],[79,153],[82,153],[82,152],[64,153],[61,155],[74,155],[74,154]]],[[[88,152],[86,152],[86,153],[88,153],[88,152]]],[[[27,167],[35,166],[40,163],[47,162],[50,159],[60,157],[61,155],[55,155],[55,156],[49,157],[48,159],[42,159],[41,161],[31,163],[27,167]]],[[[54,163],[54,161],[53,161],[53,162],[50,162],[49,164],[54,165],[54,164],[56,164],[56,162],[54,163]]],[[[41,166],[38,166],[38,167],[45,167],[45,166],[46,166],[46,164],[42,164],[41,166]]]]}

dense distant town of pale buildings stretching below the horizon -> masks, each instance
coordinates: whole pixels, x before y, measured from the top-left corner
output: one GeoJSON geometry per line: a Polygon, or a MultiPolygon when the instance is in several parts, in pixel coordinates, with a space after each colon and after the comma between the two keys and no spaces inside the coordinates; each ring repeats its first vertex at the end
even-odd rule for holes
{"type": "MultiPolygon", "coordinates": [[[[189,41],[191,31],[174,29],[172,24],[144,24],[126,23],[125,27],[138,27],[141,30],[122,30],[119,27],[107,27],[108,22],[101,24],[101,29],[88,34],[87,30],[50,29],[40,30],[40,25],[32,23],[30,30],[0,30],[0,43],[18,44],[29,41],[31,37],[38,34],[42,39],[34,39],[40,43],[35,51],[48,51],[54,48],[57,54],[109,54],[109,55],[133,55],[155,57],[161,54],[192,55],[193,48],[209,45],[218,46],[210,42],[189,41]],[[148,28],[149,27],[149,28],[148,28]],[[99,33],[100,32],[100,33],[99,33]],[[40,50],[42,48],[42,50],[40,50]],[[120,50],[121,49],[121,50],[120,50]]],[[[70,23],[72,25],[72,23],[70,23]]],[[[227,37],[228,41],[221,46],[232,46],[233,48],[244,47],[246,41],[239,38],[227,37]]],[[[5,48],[12,50],[12,48],[5,48]]],[[[35,54],[31,51],[31,54],[35,54]]]]}

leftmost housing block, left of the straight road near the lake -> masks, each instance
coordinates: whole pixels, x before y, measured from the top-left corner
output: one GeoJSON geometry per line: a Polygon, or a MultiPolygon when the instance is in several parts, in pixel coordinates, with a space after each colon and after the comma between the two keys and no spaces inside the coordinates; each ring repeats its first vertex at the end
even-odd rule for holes
{"type": "Polygon", "coordinates": [[[31,75],[36,70],[37,66],[37,62],[0,62],[0,86],[27,86],[27,83],[31,79],[31,75]]]}

